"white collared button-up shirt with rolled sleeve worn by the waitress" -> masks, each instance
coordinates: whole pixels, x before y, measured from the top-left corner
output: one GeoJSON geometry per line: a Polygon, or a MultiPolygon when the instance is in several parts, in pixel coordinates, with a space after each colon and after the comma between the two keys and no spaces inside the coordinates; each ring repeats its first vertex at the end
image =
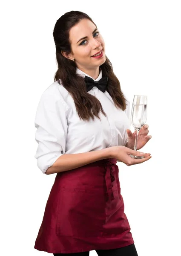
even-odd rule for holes
{"type": "MultiPolygon", "coordinates": [[[[83,78],[87,75],[77,68],[83,78]]],[[[91,77],[91,76],[89,76],[91,77]]],[[[102,78],[102,71],[97,79],[102,78]]],[[[93,79],[93,78],[92,78],[93,79]]],[[[101,102],[106,116],[99,112],[101,121],[80,120],[74,100],[69,92],[55,81],[42,94],[37,107],[34,126],[38,143],[34,157],[38,168],[45,173],[63,154],[77,154],[96,151],[116,145],[126,145],[126,129],[130,128],[129,101],[126,110],[117,109],[107,91],[104,93],[94,86],[90,94],[101,102]]]]}

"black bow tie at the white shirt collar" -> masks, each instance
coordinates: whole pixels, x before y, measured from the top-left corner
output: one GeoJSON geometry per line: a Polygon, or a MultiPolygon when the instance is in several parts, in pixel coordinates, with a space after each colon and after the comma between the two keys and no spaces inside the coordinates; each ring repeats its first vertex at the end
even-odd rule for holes
{"type": "Polygon", "coordinates": [[[85,83],[86,83],[86,91],[88,92],[89,90],[91,90],[94,86],[97,86],[99,90],[101,90],[103,93],[106,90],[107,87],[107,81],[108,81],[108,77],[103,77],[101,78],[99,81],[94,81],[94,79],[92,79],[89,76],[85,76],[84,78],[85,83]]]}

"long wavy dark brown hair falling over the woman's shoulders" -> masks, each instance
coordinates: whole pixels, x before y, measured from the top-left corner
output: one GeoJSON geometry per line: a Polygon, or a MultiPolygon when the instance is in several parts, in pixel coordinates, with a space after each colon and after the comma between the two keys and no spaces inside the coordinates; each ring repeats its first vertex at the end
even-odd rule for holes
{"type": "MultiPolygon", "coordinates": [[[[83,19],[89,19],[94,23],[86,13],[79,11],[66,12],[55,23],[53,37],[56,47],[58,69],[55,73],[54,81],[58,81],[59,84],[61,81],[63,87],[71,94],[79,118],[89,121],[90,118],[94,120],[94,116],[100,119],[98,116],[100,111],[102,111],[104,116],[106,116],[106,113],[103,111],[101,102],[95,96],[86,92],[85,81],[82,76],[76,73],[77,66],[75,62],[65,58],[61,53],[61,51],[67,54],[72,52],[71,43],[69,41],[69,31],[83,19]]],[[[106,90],[112,97],[116,108],[121,108],[124,111],[126,109],[126,99],[121,91],[120,82],[115,76],[112,64],[107,56],[106,61],[100,68],[102,70],[102,76],[108,77],[106,90]]]]}

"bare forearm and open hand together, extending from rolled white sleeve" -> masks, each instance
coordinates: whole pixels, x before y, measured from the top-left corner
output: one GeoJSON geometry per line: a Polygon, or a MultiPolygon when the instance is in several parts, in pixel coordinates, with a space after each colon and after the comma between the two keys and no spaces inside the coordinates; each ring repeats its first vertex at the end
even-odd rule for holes
{"type": "Polygon", "coordinates": [[[45,173],[49,175],[57,172],[65,172],[106,158],[116,158],[127,166],[143,163],[151,158],[150,154],[144,154],[144,158],[134,159],[131,158],[129,154],[140,156],[141,152],[134,151],[125,146],[113,146],[85,153],[64,154],[61,155],[45,173]]]}

